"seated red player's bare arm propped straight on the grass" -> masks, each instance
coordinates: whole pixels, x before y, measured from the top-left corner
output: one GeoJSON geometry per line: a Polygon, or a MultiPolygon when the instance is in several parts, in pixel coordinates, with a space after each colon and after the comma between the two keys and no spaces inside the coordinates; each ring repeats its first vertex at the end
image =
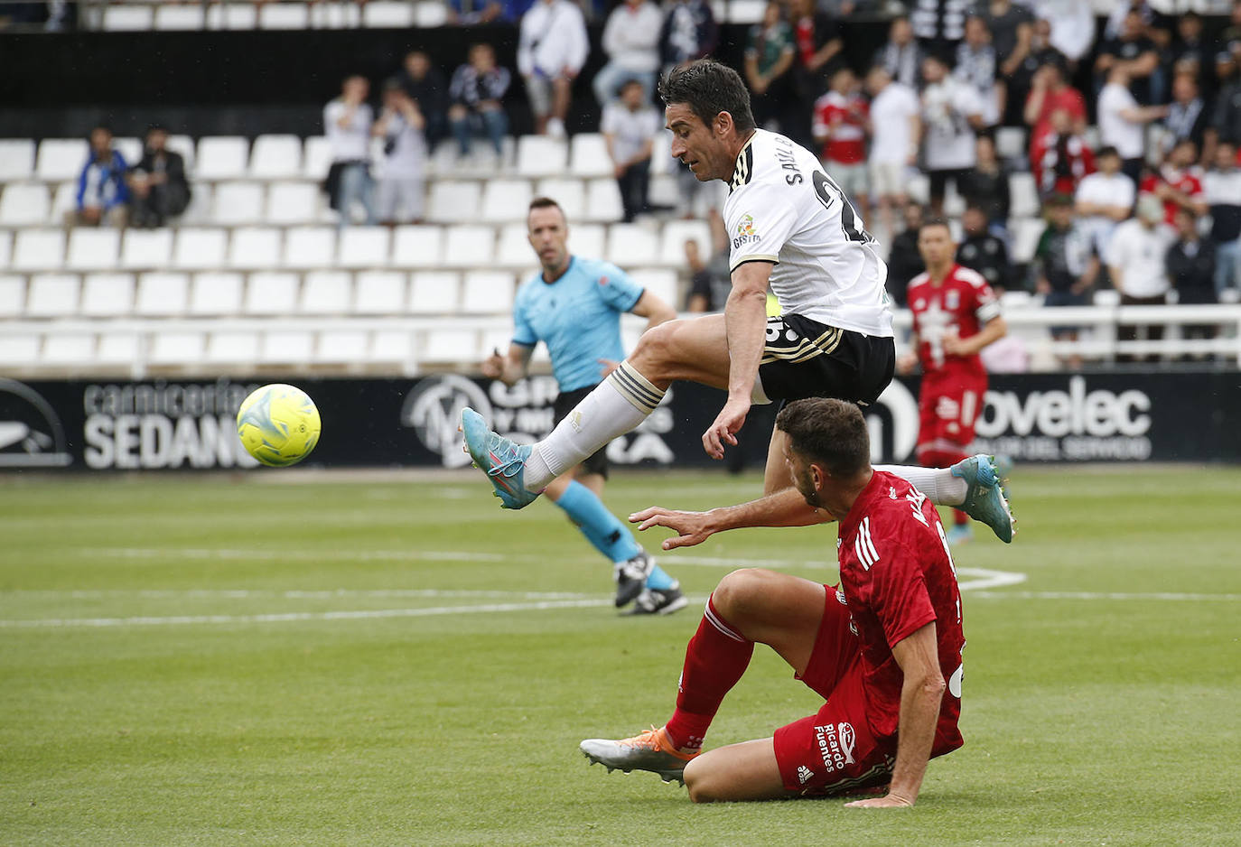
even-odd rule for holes
{"type": "Polygon", "coordinates": [[[917,629],[892,646],[892,657],[901,666],[905,683],[901,687],[901,717],[897,724],[896,764],[892,784],[884,797],[856,800],[845,806],[854,809],[898,809],[912,806],[922,787],[934,743],[934,724],[939,702],[947,687],[939,671],[934,621],[917,629]]]}

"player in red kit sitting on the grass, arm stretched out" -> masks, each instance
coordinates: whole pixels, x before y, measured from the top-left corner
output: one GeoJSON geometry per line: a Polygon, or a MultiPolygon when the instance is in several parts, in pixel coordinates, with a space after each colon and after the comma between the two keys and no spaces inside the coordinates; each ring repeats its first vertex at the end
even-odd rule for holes
{"type": "Polygon", "coordinates": [[[676,711],[659,729],[581,749],[609,770],[684,781],[695,802],[829,796],[877,789],[850,806],[911,806],[927,761],[963,744],[961,593],[943,526],[921,491],[870,466],[861,410],[789,403],[776,419],[794,487],[709,512],[660,507],[640,528],[678,533],[664,549],[741,527],[839,520],[840,584],[735,570],[707,600],[685,651],[676,711]],[[774,737],[701,753],[707,727],[755,644],[776,650],[827,701],[774,737]]]}

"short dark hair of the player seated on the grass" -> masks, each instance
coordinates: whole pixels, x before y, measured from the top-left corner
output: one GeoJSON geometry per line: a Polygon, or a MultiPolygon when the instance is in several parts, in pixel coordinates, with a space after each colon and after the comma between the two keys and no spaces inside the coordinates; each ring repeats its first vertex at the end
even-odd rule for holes
{"type": "Polygon", "coordinates": [[[788,435],[795,453],[833,476],[851,477],[870,466],[866,419],[853,403],[828,397],[794,401],[781,409],[776,428],[788,435]]]}

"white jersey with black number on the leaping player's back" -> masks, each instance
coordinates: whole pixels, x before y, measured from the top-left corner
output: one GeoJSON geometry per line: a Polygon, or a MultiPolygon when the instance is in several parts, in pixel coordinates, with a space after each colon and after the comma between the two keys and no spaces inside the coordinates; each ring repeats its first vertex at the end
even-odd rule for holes
{"type": "Polygon", "coordinates": [[[732,269],[745,262],[774,263],[771,288],[786,314],[892,336],[887,265],[813,153],[783,135],[755,130],[737,156],[724,223],[732,269]]]}

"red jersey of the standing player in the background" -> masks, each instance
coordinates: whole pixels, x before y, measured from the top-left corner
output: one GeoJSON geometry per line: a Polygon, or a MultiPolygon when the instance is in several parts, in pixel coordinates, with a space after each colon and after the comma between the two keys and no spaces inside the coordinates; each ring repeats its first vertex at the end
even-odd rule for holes
{"type": "Polygon", "coordinates": [[[956,356],[943,351],[946,335],[956,334],[962,339],[978,335],[983,324],[1000,314],[995,291],[980,274],[954,264],[944,280],[936,285],[931,274],[923,272],[910,280],[908,304],[925,373],[987,375],[978,353],[956,356]]]}

